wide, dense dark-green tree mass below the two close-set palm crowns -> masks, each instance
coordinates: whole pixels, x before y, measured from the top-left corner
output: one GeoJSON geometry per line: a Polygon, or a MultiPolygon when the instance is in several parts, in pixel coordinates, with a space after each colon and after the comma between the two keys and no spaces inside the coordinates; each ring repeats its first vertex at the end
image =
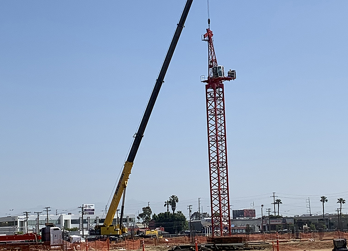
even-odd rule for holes
{"type": "Polygon", "coordinates": [[[156,227],[164,227],[164,230],[170,234],[178,234],[188,229],[187,219],[181,211],[176,213],[156,213],[153,214],[152,220],[155,220],[156,227]]]}

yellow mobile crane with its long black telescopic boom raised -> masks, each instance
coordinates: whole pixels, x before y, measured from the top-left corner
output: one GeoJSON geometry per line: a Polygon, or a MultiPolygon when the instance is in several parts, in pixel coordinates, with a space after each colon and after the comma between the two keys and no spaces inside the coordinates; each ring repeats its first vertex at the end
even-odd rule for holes
{"type": "Polygon", "coordinates": [[[187,15],[189,13],[192,1],[193,0],[186,1],[185,7],[184,7],[183,12],[182,12],[181,17],[180,17],[180,21],[176,26],[176,30],[175,30],[175,33],[173,35],[172,42],[168,48],[166,57],[165,57],[164,62],[162,64],[161,70],[158,74],[158,78],[156,80],[155,86],[153,87],[149,102],[147,104],[143,118],[142,118],[141,123],[140,123],[139,129],[135,133],[135,138],[133,141],[132,148],[130,149],[127,161],[125,162],[124,168],[122,170],[120,179],[119,179],[117,187],[116,187],[116,191],[115,191],[113,198],[112,198],[112,201],[110,203],[108,213],[106,214],[103,225],[95,226],[94,235],[104,235],[104,236],[108,235],[108,236],[117,237],[117,236],[120,236],[122,234],[127,233],[127,228],[125,228],[122,225],[127,181],[128,181],[129,175],[130,175],[130,171],[132,170],[135,155],[138,151],[141,139],[143,138],[146,125],[149,121],[153,106],[155,105],[159,90],[162,86],[162,83],[164,83],[164,81],[163,81],[164,76],[167,72],[167,69],[168,69],[169,63],[172,59],[177,41],[179,40],[181,31],[184,27],[184,23],[185,23],[187,15]],[[118,204],[120,203],[122,194],[123,194],[123,199],[122,199],[120,222],[119,222],[119,224],[113,225],[112,224],[113,217],[115,216],[115,213],[116,213],[118,204]]]}

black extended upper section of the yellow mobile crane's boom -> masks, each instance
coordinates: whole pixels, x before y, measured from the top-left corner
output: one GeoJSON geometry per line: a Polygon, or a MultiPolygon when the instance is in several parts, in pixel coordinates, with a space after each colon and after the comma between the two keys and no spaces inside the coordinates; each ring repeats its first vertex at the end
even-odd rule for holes
{"type": "Polygon", "coordinates": [[[139,129],[138,129],[138,131],[135,134],[135,139],[133,141],[132,148],[130,149],[130,152],[129,152],[129,155],[128,155],[128,158],[127,158],[128,162],[132,162],[132,163],[134,162],[135,155],[136,155],[136,153],[137,153],[137,151],[139,149],[141,139],[144,136],[144,131],[145,131],[146,125],[147,125],[147,123],[149,121],[149,118],[150,118],[153,106],[155,105],[155,102],[156,102],[159,90],[160,90],[160,88],[162,86],[162,83],[164,82],[163,81],[164,80],[164,76],[166,75],[169,63],[171,62],[171,59],[172,59],[172,56],[173,56],[173,53],[174,53],[177,41],[179,40],[182,28],[184,27],[184,23],[185,23],[187,14],[189,13],[192,1],[193,0],[187,0],[186,1],[184,10],[183,10],[183,12],[181,14],[180,21],[179,21],[179,23],[176,26],[176,30],[175,30],[174,36],[172,38],[172,42],[171,42],[171,44],[169,46],[169,49],[167,51],[167,55],[166,55],[166,57],[164,59],[162,68],[161,68],[161,70],[160,70],[160,72],[158,74],[158,78],[156,80],[155,87],[152,90],[151,97],[149,99],[149,103],[146,106],[145,113],[144,113],[143,118],[141,120],[139,129]]]}

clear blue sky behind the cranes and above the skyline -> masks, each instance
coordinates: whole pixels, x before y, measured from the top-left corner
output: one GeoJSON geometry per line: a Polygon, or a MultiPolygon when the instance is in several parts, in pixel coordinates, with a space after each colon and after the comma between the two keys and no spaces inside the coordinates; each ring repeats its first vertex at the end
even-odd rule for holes
{"type": "MultiPolygon", "coordinates": [[[[0,2],[0,216],[101,211],[185,0],[0,2]],[[14,209],[13,211],[9,211],[14,209]]],[[[230,200],[283,215],[348,200],[348,1],[210,1],[230,200]]],[[[209,211],[205,0],[194,0],[130,175],[126,213],[209,211]]],[[[347,210],[344,209],[344,212],[347,210]]]]}

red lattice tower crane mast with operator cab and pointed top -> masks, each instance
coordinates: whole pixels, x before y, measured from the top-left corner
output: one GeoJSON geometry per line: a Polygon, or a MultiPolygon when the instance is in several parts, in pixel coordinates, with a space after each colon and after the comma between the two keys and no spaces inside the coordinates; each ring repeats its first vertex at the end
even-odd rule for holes
{"type": "MultiPolygon", "coordinates": [[[[227,144],[225,123],[225,100],[223,81],[236,78],[236,71],[224,74],[224,68],[217,65],[213,32],[208,28],[202,35],[208,42],[208,78],[203,77],[207,101],[208,154],[210,175],[210,197],[212,213],[212,235],[231,235],[230,200],[228,193],[227,144]]],[[[202,78],[202,77],[201,77],[202,78]]]]}

